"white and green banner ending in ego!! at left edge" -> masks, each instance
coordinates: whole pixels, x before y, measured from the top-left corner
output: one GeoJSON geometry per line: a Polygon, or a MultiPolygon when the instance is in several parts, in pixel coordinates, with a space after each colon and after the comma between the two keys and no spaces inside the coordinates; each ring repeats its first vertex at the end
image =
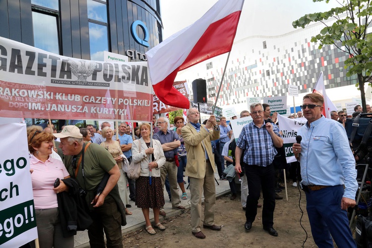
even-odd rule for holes
{"type": "Polygon", "coordinates": [[[26,124],[0,124],[0,132],[0,247],[14,248],[37,238],[26,124]]]}

